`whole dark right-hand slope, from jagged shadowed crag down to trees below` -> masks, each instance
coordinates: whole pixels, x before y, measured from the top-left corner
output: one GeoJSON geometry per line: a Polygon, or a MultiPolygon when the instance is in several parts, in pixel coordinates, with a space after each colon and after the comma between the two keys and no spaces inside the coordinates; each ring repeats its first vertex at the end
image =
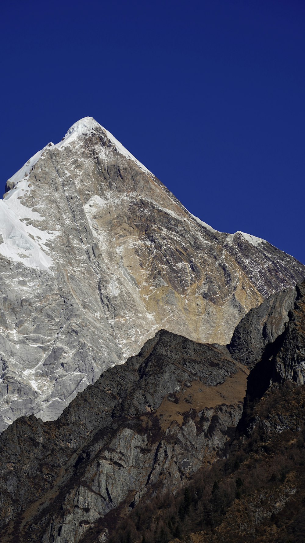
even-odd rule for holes
{"type": "Polygon", "coordinates": [[[245,315],[229,349],[252,369],[223,458],[174,496],[157,491],[132,512],[106,515],[83,543],[304,541],[305,283],[245,315]]]}

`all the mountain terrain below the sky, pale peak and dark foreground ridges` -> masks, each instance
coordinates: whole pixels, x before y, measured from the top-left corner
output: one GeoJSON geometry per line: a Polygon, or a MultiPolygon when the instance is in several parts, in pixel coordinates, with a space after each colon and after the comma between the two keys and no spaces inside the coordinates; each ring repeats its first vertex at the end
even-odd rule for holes
{"type": "Polygon", "coordinates": [[[1,543],[301,543],[305,266],[91,117],[0,205],[1,543]]]}

